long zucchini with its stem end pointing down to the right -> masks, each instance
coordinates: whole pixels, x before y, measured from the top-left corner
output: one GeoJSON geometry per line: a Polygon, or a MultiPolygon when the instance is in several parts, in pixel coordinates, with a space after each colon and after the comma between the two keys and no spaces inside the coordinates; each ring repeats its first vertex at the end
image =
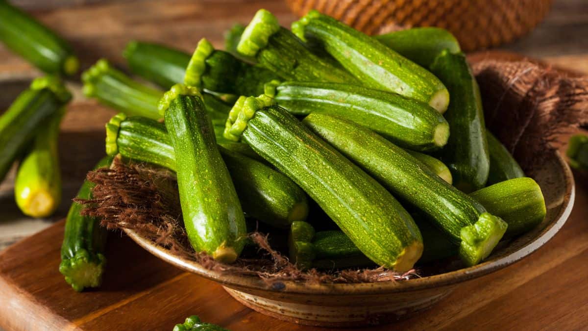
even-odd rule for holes
{"type": "Polygon", "coordinates": [[[431,217],[460,244],[460,257],[466,264],[477,264],[489,256],[505,233],[505,221],[368,128],[326,114],[310,114],[303,123],[392,194],[431,217]]]}

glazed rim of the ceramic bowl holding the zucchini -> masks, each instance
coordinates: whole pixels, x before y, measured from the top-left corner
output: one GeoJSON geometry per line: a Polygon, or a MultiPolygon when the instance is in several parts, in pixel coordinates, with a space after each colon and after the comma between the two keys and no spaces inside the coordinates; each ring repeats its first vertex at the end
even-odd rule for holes
{"type": "Polygon", "coordinates": [[[570,216],[573,207],[573,201],[576,195],[574,186],[574,179],[572,171],[567,166],[566,161],[559,153],[553,151],[553,156],[559,163],[563,170],[563,177],[566,181],[566,192],[562,205],[564,206],[560,212],[554,217],[554,221],[548,224],[544,229],[537,234],[536,239],[530,241],[520,249],[500,257],[496,260],[489,260],[476,266],[453,270],[447,273],[436,274],[433,276],[420,277],[400,282],[373,282],[373,283],[331,283],[331,284],[314,284],[296,282],[293,280],[280,281],[284,286],[269,287],[267,282],[256,276],[243,276],[234,274],[223,274],[222,272],[205,269],[200,264],[179,256],[173,256],[168,250],[153,243],[151,240],[139,236],[131,229],[123,229],[125,233],[131,237],[133,241],[148,250],[153,255],[160,259],[173,264],[180,269],[186,270],[213,280],[232,288],[261,290],[270,292],[282,292],[289,294],[305,294],[305,295],[344,295],[344,294],[388,294],[408,292],[415,290],[429,289],[431,287],[449,286],[452,284],[465,282],[466,280],[475,279],[477,277],[485,276],[486,274],[503,269],[513,263],[518,262],[526,256],[547,243],[559,231],[563,224],[566,223],[570,216]]]}

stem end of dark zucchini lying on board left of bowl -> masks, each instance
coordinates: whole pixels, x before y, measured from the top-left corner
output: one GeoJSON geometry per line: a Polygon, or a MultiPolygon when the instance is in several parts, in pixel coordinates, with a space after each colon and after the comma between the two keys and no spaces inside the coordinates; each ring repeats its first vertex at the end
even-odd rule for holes
{"type": "Polygon", "coordinates": [[[82,292],[86,287],[100,286],[105,264],[106,258],[102,254],[90,254],[81,249],[71,259],[62,260],[59,272],[74,290],[82,292]]]}

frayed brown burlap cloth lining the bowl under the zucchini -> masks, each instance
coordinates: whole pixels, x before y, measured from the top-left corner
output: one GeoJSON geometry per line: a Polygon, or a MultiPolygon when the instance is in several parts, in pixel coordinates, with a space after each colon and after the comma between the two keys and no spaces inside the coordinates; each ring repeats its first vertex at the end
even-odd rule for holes
{"type": "MultiPolygon", "coordinates": [[[[530,61],[482,59],[472,65],[482,91],[486,125],[533,176],[550,143],[563,133],[588,124],[588,80],[530,61]]],[[[253,245],[233,264],[220,264],[189,245],[181,224],[175,176],[145,164],[123,163],[92,171],[94,200],[85,201],[85,213],[102,218],[109,229],[133,229],[166,247],[171,253],[220,272],[260,277],[268,286],[282,280],[318,283],[389,282],[430,274],[427,266],[398,274],[382,268],[362,270],[309,270],[302,272],[268,241],[272,233],[253,232],[253,245]]],[[[435,273],[455,268],[445,262],[435,273]]]]}

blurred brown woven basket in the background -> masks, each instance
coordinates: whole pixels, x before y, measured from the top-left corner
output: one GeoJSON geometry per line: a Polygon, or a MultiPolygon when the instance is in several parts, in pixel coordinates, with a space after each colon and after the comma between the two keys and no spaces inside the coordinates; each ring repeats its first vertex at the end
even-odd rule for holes
{"type": "Polygon", "coordinates": [[[317,9],[366,34],[410,27],[451,31],[464,51],[513,41],[531,31],[553,0],[286,0],[297,15],[317,9]]]}

